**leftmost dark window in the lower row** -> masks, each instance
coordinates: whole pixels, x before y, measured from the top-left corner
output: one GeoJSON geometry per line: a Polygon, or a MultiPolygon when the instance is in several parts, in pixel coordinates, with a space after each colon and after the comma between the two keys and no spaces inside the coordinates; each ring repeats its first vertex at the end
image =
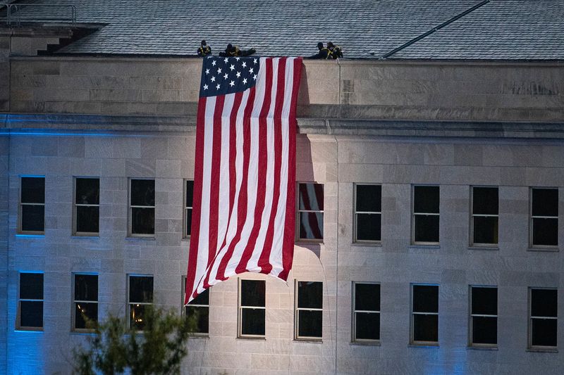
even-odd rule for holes
{"type": "Polygon", "coordinates": [[[43,328],[43,274],[20,273],[18,329],[43,328]]]}

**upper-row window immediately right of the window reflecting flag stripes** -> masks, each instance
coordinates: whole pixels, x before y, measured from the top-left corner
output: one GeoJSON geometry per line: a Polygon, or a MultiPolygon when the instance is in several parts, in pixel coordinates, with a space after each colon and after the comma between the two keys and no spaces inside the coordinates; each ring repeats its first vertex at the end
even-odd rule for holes
{"type": "Polygon", "coordinates": [[[380,241],[382,186],[355,185],[355,241],[380,241]]]}

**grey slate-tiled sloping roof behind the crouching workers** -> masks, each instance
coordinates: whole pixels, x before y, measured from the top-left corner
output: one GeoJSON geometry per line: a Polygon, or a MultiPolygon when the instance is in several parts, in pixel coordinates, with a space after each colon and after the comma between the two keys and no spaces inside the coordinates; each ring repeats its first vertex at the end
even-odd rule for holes
{"type": "MultiPolygon", "coordinates": [[[[319,41],[345,58],[562,60],[562,0],[37,0],[74,5],[79,23],[106,26],[59,53],[194,55],[228,43],[261,56],[309,56],[319,41]]],[[[27,11],[32,11],[31,9],[27,11]]]]}

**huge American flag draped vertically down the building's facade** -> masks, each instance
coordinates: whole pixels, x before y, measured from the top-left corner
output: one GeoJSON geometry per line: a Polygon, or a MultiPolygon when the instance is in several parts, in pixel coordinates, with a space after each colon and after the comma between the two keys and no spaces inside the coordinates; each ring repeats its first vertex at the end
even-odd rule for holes
{"type": "Polygon", "coordinates": [[[301,66],[301,58],[204,58],[185,303],[243,272],[288,279],[301,66]]]}

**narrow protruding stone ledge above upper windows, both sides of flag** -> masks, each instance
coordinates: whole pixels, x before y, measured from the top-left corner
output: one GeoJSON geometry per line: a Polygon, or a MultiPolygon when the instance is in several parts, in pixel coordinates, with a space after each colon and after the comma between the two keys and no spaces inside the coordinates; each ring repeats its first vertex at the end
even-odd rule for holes
{"type": "MultiPolygon", "coordinates": [[[[0,114],[0,129],[195,132],[195,116],[0,114]]],[[[1,130],[0,130],[1,132],[1,130]]],[[[564,123],[298,118],[300,134],[564,139],[564,123]]]]}

